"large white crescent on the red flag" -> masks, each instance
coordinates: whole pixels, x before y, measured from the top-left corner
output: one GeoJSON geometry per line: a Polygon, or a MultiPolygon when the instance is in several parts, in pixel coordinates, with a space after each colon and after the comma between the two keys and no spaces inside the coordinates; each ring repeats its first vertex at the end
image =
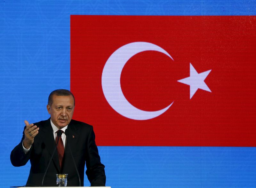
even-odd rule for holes
{"type": "Polygon", "coordinates": [[[116,110],[117,113],[130,119],[152,119],[163,114],[173,104],[172,102],[166,108],[158,111],[144,111],[134,107],[128,102],[122,92],[120,78],[124,65],[132,56],[148,50],[162,52],[173,60],[164,49],[155,44],[149,42],[132,42],[120,47],[111,54],[102,71],[102,90],[109,105],[116,110]]]}

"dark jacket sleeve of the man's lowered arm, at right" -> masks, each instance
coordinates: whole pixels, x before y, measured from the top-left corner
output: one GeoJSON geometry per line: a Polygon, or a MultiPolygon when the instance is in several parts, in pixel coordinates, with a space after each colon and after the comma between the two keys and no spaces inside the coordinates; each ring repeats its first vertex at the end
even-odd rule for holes
{"type": "Polygon", "coordinates": [[[105,166],[100,162],[98,148],[95,143],[95,134],[91,127],[88,137],[88,154],[86,156],[86,175],[91,183],[91,186],[105,186],[106,175],[105,166]]]}

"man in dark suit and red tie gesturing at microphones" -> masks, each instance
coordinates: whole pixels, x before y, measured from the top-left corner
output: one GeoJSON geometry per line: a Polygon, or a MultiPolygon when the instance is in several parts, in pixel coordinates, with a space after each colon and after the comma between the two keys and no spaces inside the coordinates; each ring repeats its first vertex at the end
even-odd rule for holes
{"type": "Polygon", "coordinates": [[[41,185],[56,147],[57,132],[59,130],[65,132],[67,128],[68,136],[63,133],[59,139],[58,152],[55,151],[53,154],[44,178],[44,186],[56,186],[56,174],[68,174],[67,186],[79,185],[71,153],[74,156],[82,186],[84,185],[85,164],[86,175],[91,186],[105,186],[105,166],[100,162],[93,128],[91,125],[72,120],[74,108],[74,95],[68,90],[57,89],[52,91],[48,98],[47,111],[51,115],[48,120],[34,124],[29,124],[25,120],[23,137],[20,144],[11,152],[11,162],[13,166],[23,166],[30,160],[28,186],[41,185]],[[65,152],[64,148],[62,149],[64,155],[59,147],[65,148],[65,152]]]}

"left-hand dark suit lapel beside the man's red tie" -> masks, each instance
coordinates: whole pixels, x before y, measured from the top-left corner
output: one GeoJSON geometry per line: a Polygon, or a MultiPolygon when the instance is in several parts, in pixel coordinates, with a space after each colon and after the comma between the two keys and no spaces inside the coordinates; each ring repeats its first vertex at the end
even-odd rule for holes
{"type": "MultiPolygon", "coordinates": [[[[48,152],[50,153],[50,156],[52,156],[53,151],[56,147],[56,144],[55,144],[55,140],[54,140],[53,133],[52,133],[52,126],[51,126],[50,118],[47,120],[46,124],[40,129],[42,132],[42,139],[45,142],[45,147],[48,150],[48,152]]],[[[60,163],[59,163],[57,149],[54,152],[52,161],[54,163],[54,166],[60,173],[60,163]]]]}

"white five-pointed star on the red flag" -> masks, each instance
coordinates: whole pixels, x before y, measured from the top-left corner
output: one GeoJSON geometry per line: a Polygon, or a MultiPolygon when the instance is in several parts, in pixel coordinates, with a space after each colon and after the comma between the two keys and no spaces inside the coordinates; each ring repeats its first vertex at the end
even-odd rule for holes
{"type": "Polygon", "coordinates": [[[211,70],[201,72],[198,74],[196,69],[190,63],[190,76],[187,78],[178,80],[178,82],[181,82],[183,84],[187,84],[190,86],[190,99],[196,93],[197,89],[203,89],[205,91],[212,92],[204,82],[205,78],[208,76],[210,72],[211,70]]]}

